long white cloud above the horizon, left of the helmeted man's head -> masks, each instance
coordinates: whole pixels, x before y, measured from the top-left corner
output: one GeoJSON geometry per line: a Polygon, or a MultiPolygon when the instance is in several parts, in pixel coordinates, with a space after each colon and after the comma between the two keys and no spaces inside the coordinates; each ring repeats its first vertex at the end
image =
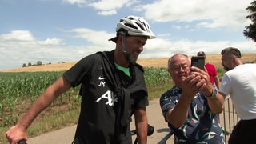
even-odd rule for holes
{"type": "Polygon", "coordinates": [[[107,39],[115,34],[106,31],[90,29],[73,29],[66,31],[73,34],[73,38],[82,38],[89,42],[86,46],[67,46],[60,38],[47,38],[38,40],[30,31],[11,31],[0,35],[0,66],[8,69],[9,66],[21,67],[23,63],[32,64],[42,61],[45,63],[78,62],[88,54],[99,50],[113,50],[114,42],[107,39]]]}

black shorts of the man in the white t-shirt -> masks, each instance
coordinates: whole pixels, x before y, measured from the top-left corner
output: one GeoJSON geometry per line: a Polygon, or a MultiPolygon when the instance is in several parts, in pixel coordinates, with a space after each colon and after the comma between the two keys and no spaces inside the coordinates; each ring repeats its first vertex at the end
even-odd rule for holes
{"type": "Polygon", "coordinates": [[[230,134],[229,144],[255,143],[256,119],[241,120],[234,126],[230,134]]]}

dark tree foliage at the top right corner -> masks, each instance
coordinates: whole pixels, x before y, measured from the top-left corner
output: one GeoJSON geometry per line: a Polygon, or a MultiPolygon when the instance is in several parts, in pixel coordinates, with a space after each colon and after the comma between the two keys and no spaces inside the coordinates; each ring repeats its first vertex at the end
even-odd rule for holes
{"type": "Polygon", "coordinates": [[[246,38],[251,38],[256,42],[256,1],[254,0],[251,2],[246,10],[250,13],[246,18],[249,18],[252,23],[249,26],[246,26],[246,30],[243,30],[243,34],[246,38]]]}

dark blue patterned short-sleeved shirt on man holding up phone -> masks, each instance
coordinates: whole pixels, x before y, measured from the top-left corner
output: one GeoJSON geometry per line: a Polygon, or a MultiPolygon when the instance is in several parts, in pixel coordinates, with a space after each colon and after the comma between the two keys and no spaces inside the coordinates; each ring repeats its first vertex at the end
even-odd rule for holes
{"type": "MultiPolygon", "coordinates": [[[[162,94],[160,106],[164,117],[176,106],[181,94],[182,89],[177,86],[162,94]]],[[[202,93],[198,93],[191,100],[186,122],[181,127],[174,128],[170,123],[168,126],[174,130],[178,143],[225,143],[218,114],[210,111],[207,99],[202,93]]]]}

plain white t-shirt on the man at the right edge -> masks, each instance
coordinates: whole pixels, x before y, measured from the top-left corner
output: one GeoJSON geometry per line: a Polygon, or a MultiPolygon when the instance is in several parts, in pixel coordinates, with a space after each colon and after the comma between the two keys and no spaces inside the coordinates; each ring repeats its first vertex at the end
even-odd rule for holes
{"type": "Polygon", "coordinates": [[[256,64],[238,65],[227,71],[219,92],[230,94],[239,118],[256,119],[256,64]]]}

